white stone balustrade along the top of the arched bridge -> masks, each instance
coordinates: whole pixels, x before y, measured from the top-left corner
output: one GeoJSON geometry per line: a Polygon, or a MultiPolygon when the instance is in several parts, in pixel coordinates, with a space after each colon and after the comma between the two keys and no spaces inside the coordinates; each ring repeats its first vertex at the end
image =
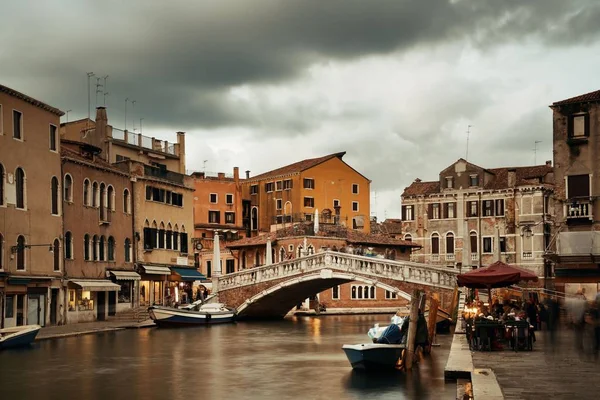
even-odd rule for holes
{"type": "Polygon", "coordinates": [[[455,270],[429,264],[357,256],[328,250],[224,275],[219,277],[219,290],[291,277],[325,268],[358,273],[373,278],[388,278],[444,288],[453,288],[456,283],[456,275],[458,275],[455,270]]]}

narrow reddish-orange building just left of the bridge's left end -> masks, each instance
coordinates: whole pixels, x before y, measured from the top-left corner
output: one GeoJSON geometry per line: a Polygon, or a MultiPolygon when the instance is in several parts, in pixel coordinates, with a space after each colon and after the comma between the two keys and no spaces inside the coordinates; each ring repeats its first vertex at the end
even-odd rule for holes
{"type": "Polygon", "coordinates": [[[210,278],[214,267],[213,241],[219,233],[221,271],[237,271],[236,259],[227,244],[246,237],[249,232],[250,202],[242,200],[242,185],[238,167],[233,175],[223,172],[195,172],[194,178],[194,261],[196,269],[210,278]],[[215,176],[216,175],[216,176],[215,176]],[[246,212],[244,212],[244,205],[246,212]]]}

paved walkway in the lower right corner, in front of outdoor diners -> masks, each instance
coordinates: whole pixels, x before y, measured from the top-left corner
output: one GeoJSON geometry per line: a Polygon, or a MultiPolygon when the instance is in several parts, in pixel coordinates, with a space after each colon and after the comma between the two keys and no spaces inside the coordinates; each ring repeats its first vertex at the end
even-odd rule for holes
{"type": "Polygon", "coordinates": [[[473,366],[494,371],[505,399],[597,399],[600,361],[574,350],[573,331],[560,331],[554,348],[536,335],[531,352],[475,351],[473,366]]]}

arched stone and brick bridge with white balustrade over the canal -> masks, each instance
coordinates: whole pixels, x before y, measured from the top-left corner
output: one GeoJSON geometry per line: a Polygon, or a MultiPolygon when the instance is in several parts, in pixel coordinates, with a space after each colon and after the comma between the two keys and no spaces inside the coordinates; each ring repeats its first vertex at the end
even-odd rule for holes
{"type": "Polygon", "coordinates": [[[324,251],[218,277],[219,301],[242,318],[282,318],[307,297],[359,281],[409,300],[414,289],[438,292],[447,308],[457,271],[409,261],[324,251]]]}

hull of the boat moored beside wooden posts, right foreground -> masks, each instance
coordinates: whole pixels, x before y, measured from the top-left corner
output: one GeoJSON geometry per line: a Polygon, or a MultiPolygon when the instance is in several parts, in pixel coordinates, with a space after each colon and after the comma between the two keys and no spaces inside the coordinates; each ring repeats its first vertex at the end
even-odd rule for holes
{"type": "Polygon", "coordinates": [[[395,369],[405,348],[400,344],[374,343],[342,346],[352,368],[361,370],[395,369]]]}

